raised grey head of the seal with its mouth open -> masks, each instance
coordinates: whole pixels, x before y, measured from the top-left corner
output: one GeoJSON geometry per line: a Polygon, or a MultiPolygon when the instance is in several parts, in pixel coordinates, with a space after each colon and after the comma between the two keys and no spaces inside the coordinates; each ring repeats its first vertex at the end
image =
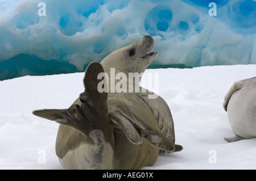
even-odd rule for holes
{"type": "Polygon", "coordinates": [[[153,47],[154,39],[144,36],[142,40],[110,53],[101,65],[105,71],[115,68],[124,73],[143,73],[158,54],[155,50],[149,53],[153,47]]]}

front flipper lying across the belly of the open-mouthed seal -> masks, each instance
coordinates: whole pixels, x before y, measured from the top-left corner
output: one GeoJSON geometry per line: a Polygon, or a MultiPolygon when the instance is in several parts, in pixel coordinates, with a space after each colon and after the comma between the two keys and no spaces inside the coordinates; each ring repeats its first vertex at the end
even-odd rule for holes
{"type": "Polygon", "coordinates": [[[175,151],[175,145],[166,136],[157,129],[144,125],[143,121],[126,104],[114,105],[110,107],[109,119],[114,127],[123,130],[130,142],[141,144],[142,138],[145,137],[156,148],[167,151],[167,153],[175,151]]]}

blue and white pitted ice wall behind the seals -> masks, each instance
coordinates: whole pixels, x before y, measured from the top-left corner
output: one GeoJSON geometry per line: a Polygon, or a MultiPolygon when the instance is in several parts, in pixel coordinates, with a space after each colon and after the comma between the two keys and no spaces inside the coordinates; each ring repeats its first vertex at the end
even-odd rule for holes
{"type": "Polygon", "coordinates": [[[0,80],[83,71],[144,35],[151,67],[256,64],[255,1],[0,0],[0,80]]]}

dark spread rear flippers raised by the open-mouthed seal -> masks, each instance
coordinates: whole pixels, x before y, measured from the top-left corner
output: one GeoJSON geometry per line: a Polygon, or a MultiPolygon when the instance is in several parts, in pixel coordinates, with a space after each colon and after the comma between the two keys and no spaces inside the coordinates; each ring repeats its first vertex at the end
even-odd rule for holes
{"type": "Polygon", "coordinates": [[[97,86],[101,81],[98,74],[104,69],[98,62],[92,62],[85,71],[85,91],[66,110],[37,110],[34,115],[40,116],[57,123],[72,127],[80,131],[86,137],[93,129],[106,129],[111,125],[108,117],[108,93],[98,92],[97,86]]]}

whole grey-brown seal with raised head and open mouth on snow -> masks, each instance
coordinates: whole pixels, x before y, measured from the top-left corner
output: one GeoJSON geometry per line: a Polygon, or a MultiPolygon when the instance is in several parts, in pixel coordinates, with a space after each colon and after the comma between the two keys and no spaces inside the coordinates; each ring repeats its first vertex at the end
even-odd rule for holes
{"type": "Polygon", "coordinates": [[[148,53],[152,47],[154,39],[145,36],[101,64],[92,62],[85,71],[85,91],[71,107],[33,112],[60,123],[56,154],[65,169],[141,169],[154,165],[159,150],[183,149],[175,144],[171,112],[162,98],[149,99],[149,91],[98,90],[98,75],[106,81],[112,68],[115,74],[143,73],[156,57],[156,51],[148,53]]]}

